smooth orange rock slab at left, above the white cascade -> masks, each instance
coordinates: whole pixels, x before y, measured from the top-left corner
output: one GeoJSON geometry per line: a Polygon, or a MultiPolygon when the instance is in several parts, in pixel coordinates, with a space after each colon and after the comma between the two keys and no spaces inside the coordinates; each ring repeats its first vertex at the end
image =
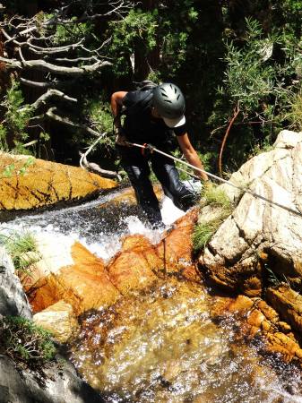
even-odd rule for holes
{"type": "Polygon", "coordinates": [[[74,201],[110,189],[116,182],[91,174],[80,167],[35,159],[25,167],[28,156],[0,155],[0,169],[13,164],[12,175],[4,177],[0,184],[0,210],[30,210],[55,204],[58,201],[74,201]],[[25,174],[21,175],[25,167],[25,174]]]}

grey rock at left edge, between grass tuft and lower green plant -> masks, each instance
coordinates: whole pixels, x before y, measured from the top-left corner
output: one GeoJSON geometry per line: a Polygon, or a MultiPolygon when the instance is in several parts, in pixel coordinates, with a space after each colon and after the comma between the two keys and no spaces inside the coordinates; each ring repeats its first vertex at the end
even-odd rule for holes
{"type": "Polygon", "coordinates": [[[28,319],[32,316],[20,280],[14,274],[12,259],[3,247],[0,247],[0,314],[28,319]]]}

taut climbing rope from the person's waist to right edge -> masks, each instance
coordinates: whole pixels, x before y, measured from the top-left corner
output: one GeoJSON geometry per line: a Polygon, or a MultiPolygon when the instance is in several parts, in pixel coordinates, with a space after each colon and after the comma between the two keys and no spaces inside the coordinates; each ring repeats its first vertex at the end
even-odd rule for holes
{"type": "MultiPolygon", "coordinates": [[[[213,174],[211,174],[210,172],[205,171],[204,169],[201,169],[201,168],[198,168],[198,167],[194,167],[194,165],[189,164],[189,163],[186,162],[186,161],[183,161],[183,160],[181,160],[181,159],[177,159],[177,158],[174,157],[173,155],[167,154],[167,153],[164,152],[164,151],[161,151],[161,150],[156,149],[152,144],[147,144],[147,143],[138,144],[138,143],[136,143],[136,142],[131,142],[131,141],[125,141],[125,143],[126,143],[127,145],[129,145],[129,146],[133,146],[133,147],[138,147],[138,148],[140,148],[140,149],[149,150],[150,153],[157,152],[157,153],[159,153],[159,154],[161,154],[161,155],[163,155],[163,156],[165,156],[165,157],[168,157],[168,159],[173,159],[174,161],[177,161],[177,162],[180,162],[181,164],[186,165],[186,167],[191,167],[191,168],[193,168],[195,171],[202,172],[203,174],[206,174],[207,176],[210,176],[210,177],[212,177],[213,179],[216,179],[217,181],[222,182],[223,184],[229,184],[230,186],[235,187],[236,189],[240,190],[241,192],[249,193],[249,194],[251,194],[252,196],[254,196],[254,197],[258,198],[258,199],[261,199],[261,200],[263,200],[263,201],[267,201],[267,202],[269,202],[270,204],[273,204],[273,205],[275,205],[275,206],[277,206],[277,207],[280,207],[280,209],[287,210],[287,211],[289,211],[289,212],[291,212],[291,213],[297,215],[297,216],[300,217],[300,218],[302,217],[302,213],[299,212],[299,211],[297,211],[297,210],[290,209],[290,207],[284,206],[284,204],[280,204],[280,203],[278,203],[277,201],[269,200],[269,199],[267,199],[266,197],[262,196],[261,194],[252,192],[251,190],[247,189],[246,187],[241,187],[241,186],[237,186],[237,184],[232,184],[231,182],[229,182],[229,181],[227,181],[227,180],[221,178],[220,176],[213,175],[213,174]]],[[[181,169],[181,170],[183,170],[183,169],[181,169]]],[[[187,171],[185,171],[185,172],[186,172],[188,175],[194,176],[194,174],[191,174],[191,173],[189,173],[189,172],[187,172],[187,171]]],[[[198,176],[194,176],[194,177],[198,177],[198,176]]],[[[198,179],[199,179],[199,178],[198,178],[198,179]]]]}

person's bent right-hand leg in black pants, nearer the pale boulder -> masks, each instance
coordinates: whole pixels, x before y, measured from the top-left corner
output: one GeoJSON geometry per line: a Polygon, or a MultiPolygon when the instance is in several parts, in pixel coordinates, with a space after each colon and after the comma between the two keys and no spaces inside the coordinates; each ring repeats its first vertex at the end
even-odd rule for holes
{"type": "Polygon", "coordinates": [[[173,159],[153,154],[151,164],[164,193],[172,199],[178,209],[187,210],[192,207],[196,202],[197,195],[180,181],[173,159]]]}

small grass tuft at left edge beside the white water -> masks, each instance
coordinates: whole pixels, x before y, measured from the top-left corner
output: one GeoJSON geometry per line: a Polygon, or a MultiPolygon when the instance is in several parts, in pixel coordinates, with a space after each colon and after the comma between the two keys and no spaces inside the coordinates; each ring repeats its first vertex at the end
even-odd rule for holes
{"type": "Polygon", "coordinates": [[[14,268],[19,273],[27,273],[30,265],[39,261],[37,242],[30,232],[13,231],[9,236],[0,234],[0,244],[4,244],[12,256],[14,268]]]}

